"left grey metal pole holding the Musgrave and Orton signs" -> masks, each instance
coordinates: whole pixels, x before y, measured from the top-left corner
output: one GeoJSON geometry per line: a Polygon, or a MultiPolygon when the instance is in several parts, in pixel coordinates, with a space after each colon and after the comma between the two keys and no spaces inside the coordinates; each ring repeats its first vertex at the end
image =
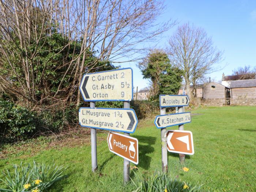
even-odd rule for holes
{"type": "MultiPolygon", "coordinates": [[[[95,108],[95,102],[90,102],[90,107],[95,108]]],[[[91,170],[95,172],[97,168],[98,168],[98,165],[97,165],[96,129],[91,128],[91,170]]]]}

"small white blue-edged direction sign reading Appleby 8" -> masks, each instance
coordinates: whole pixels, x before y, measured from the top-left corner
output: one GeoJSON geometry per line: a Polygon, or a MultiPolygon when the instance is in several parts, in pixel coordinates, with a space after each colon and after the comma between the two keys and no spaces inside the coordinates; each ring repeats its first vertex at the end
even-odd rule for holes
{"type": "Polygon", "coordinates": [[[188,95],[159,95],[161,108],[188,106],[188,95]]]}

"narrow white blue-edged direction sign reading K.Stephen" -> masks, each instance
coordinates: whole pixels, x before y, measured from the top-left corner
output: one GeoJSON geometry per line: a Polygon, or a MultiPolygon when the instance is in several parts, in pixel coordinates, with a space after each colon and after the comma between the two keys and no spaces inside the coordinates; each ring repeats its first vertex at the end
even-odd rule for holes
{"type": "Polygon", "coordinates": [[[166,115],[158,115],[155,117],[155,126],[158,129],[171,127],[174,125],[181,125],[185,123],[191,123],[191,113],[172,113],[166,115]]]}

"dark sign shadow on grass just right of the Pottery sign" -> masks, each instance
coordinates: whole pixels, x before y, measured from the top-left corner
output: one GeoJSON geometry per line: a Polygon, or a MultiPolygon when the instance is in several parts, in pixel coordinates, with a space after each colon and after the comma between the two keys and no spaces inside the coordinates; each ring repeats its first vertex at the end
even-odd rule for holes
{"type": "Polygon", "coordinates": [[[139,141],[139,164],[138,166],[148,170],[150,167],[151,157],[147,154],[155,151],[151,145],[155,144],[157,138],[152,136],[136,135],[135,138],[139,141]],[[145,143],[145,144],[144,144],[145,143]]]}

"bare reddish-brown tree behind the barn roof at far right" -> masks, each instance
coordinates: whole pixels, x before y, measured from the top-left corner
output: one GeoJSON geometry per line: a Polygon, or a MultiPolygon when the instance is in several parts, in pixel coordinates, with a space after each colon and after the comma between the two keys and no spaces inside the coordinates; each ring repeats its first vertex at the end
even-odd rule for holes
{"type": "Polygon", "coordinates": [[[251,69],[251,66],[244,66],[244,67],[238,67],[237,69],[233,70],[232,75],[237,75],[238,79],[243,80],[243,79],[255,79],[256,75],[256,67],[251,69]]]}

